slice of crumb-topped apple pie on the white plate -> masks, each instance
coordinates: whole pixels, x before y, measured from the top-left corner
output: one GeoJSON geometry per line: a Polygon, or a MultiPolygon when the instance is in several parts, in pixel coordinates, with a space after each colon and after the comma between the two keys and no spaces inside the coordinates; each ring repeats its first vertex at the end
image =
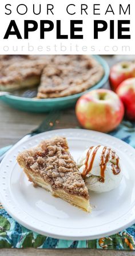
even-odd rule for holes
{"type": "Polygon", "coordinates": [[[17,161],[34,185],[90,212],[88,188],[68,151],[66,138],[46,139],[19,153],[17,161]]]}

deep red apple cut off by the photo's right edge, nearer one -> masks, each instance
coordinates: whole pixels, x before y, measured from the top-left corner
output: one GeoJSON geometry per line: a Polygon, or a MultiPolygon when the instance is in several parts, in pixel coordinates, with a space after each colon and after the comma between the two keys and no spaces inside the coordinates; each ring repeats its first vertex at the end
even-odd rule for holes
{"type": "Polygon", "coordinates": [[[126,79],[116,92],[124,103],[126,118],[135,121],[135,78],[126,79]]]}

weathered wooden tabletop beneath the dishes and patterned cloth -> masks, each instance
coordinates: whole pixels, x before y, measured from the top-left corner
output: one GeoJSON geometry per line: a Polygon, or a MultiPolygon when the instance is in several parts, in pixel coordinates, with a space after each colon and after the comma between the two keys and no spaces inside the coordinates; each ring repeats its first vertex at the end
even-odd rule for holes
{"type": "MultiPolygon", "coordinates": [[[[14,110],[6,104],[0,102],[0,148],[7,145],[13,145],[23,135],[39,126],[45,119],[46,114],[25,113],[14,110]]],[[[62,113],[56,128],[74,128],[78,126],[74,110],[66,110],[62,113]],[[70,124],[68,122],[70,120],[70,124]],[[72,124],[72,125],[71,125],[72,124]]],[[[94,250],[94,249],[1,249],[1,256],[19,256],[19,255],[54,255],[54,256],[81,256],[81,255],[104,255],[104,256],[123,256],[135,255],[134,251],[114,251],[114,250],[94,250]]]]}

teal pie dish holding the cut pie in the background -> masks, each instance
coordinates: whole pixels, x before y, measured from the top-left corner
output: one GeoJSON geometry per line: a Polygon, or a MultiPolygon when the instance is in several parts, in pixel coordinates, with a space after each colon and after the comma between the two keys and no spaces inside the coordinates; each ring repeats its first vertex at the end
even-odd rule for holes
{"type": "MultiPolygon", "coordinates": [[[[104,68],[104,76],[95,86],[90,88],[91,91],[94,89],[98,89],[104,86],[109,77],[109,66],[108,63],[102,57],[98,55],[93,55],[93,57],[102,65],[104,68]]],[[[35,98],[24,98],[22,96],[16,96],[13,94],[1,94],[0,100],[8,104],[13,108],[17,108],[18,110],[27,111],[27,112],[35,112],[35,113],[45,113],[51,110],[58,109],[66,109],[73,107],[77,99],[80,98],[85,92],[81,92],[79,94],[74,94],[70,96],[65,96],[62,98],[51,98],[51,99],[35,99],[35,98]]]]}

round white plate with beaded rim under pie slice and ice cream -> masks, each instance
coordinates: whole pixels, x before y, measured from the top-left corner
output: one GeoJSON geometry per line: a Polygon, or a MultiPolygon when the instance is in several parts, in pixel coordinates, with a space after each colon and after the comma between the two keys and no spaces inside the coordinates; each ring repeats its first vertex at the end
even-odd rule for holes
{"type": "Polygon", "coordinates": [[[35,135],[15,146],[1,163],[1,203],[23,226],[43,235],[61,239],[95,239],[114,234],[135,222],[135,150],[110,135],[81,129],[54,130],[35,135]],[[19,168],[19,152],[56,135],[68,138],[74,160],[92,145],[107,145],[121,159],[124,177],[120,187],[107,193],[90,193],[93,206],[88,214],[65,201],[34,188],[19,168]]]}

